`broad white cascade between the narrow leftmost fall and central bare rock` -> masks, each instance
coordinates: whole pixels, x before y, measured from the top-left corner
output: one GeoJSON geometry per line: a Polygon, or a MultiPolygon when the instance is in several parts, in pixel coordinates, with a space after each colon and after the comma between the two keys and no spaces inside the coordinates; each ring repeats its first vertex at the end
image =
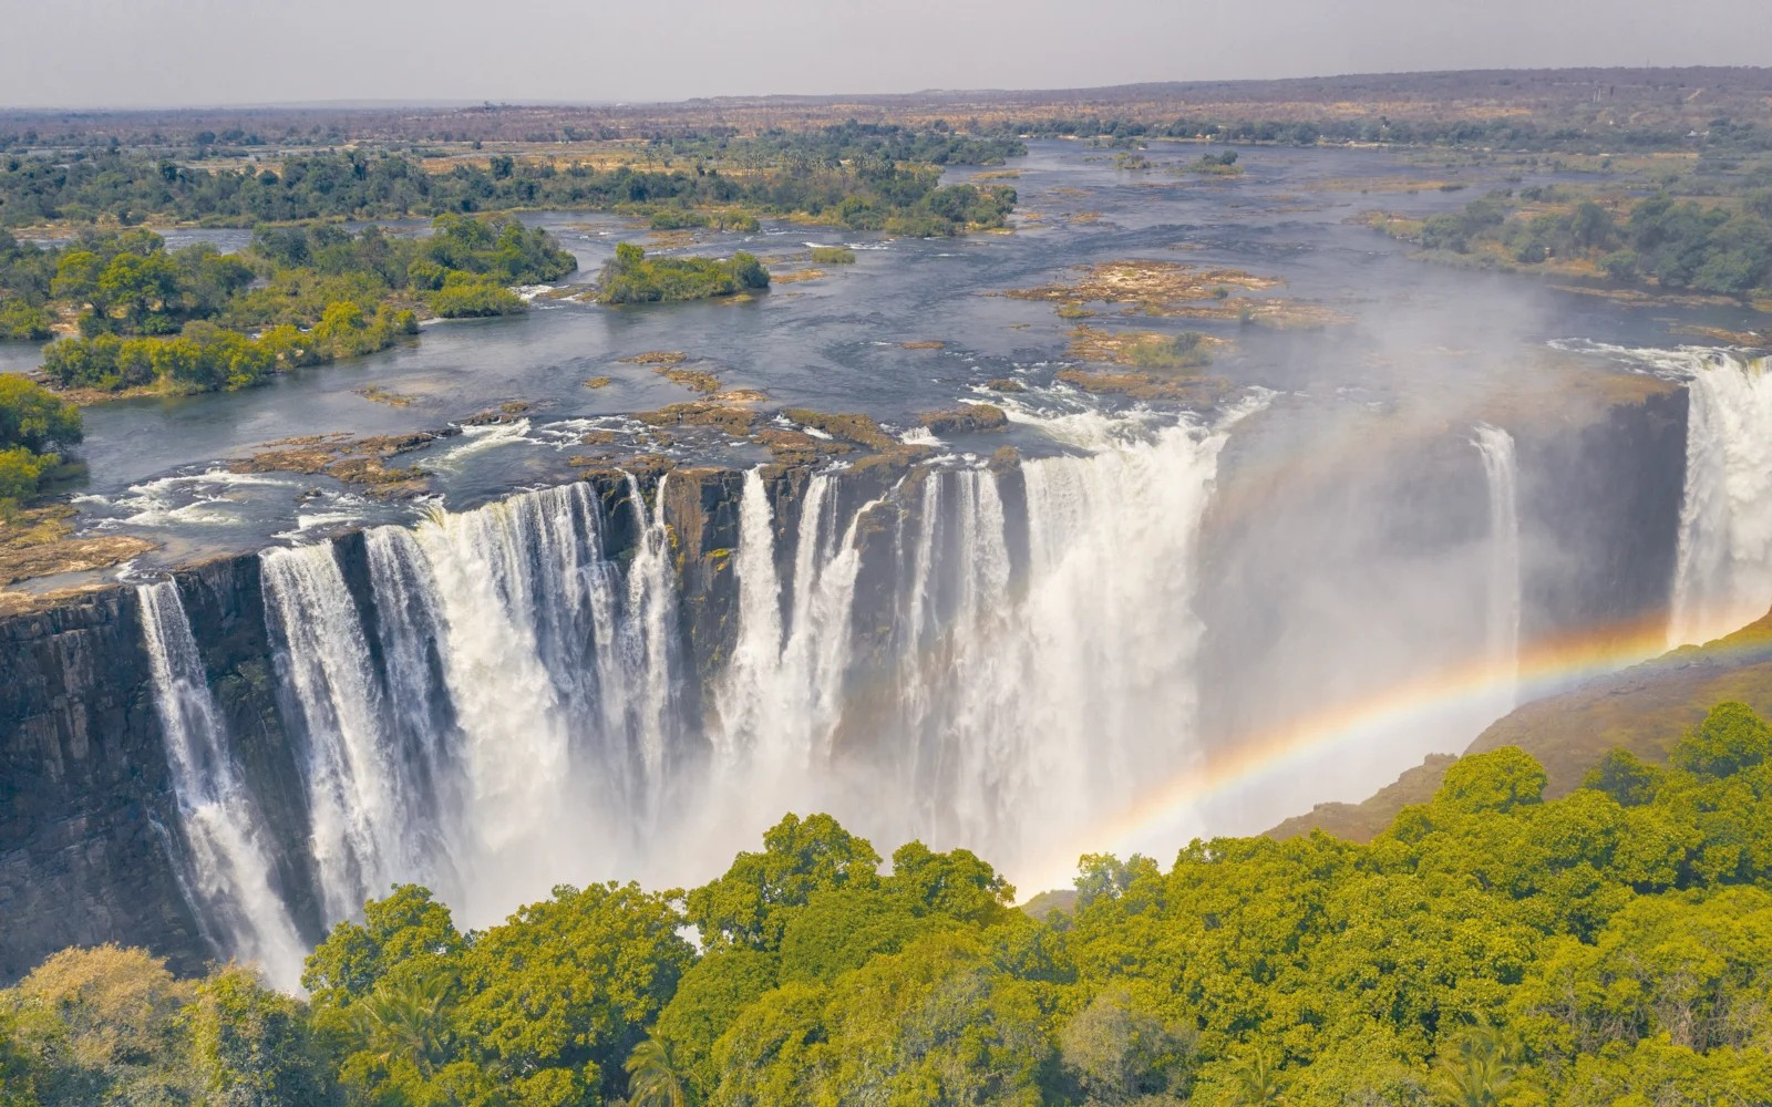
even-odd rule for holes
{"type": "Polygon", "coordinates": [[[633,857],[682,719],[670,535],[629,505],[626,574],[581,484],[367,531],[361,608],[335,547],[264,554],[331,917],[422,880],[480,921],[587,841],[633,857]]]}

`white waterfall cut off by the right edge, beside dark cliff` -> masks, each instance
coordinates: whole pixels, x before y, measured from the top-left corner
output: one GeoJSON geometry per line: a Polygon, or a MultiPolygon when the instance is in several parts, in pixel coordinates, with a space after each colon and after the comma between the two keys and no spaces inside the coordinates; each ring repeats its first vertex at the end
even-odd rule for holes
{"type": "Polygon", "coordinates": [[[1738,631],[1772,606],[1772,374],[1767,358],[1682,351],[1685,501],[1669,645],[1738,631]]]}

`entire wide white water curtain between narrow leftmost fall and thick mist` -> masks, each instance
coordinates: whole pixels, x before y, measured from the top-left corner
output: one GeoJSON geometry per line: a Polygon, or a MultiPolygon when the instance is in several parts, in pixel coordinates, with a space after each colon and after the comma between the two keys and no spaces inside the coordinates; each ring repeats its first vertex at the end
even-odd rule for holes
{"type": "Polygon", "coordinates": [[[705,879],[787,809],[1045,861],[1198,755],[1226,427],[1053,420],[1065,455],[955,459],[861,505],[813,475],[792,528],[751,471],[714,671],[684,654],[672,478],[372,530],[361,595],[335,546],[264,553],[324,910],[420,880],[480,925],[560,880],[705,879]],[[865,556],[890,561],[867,618],[865,556]]]}

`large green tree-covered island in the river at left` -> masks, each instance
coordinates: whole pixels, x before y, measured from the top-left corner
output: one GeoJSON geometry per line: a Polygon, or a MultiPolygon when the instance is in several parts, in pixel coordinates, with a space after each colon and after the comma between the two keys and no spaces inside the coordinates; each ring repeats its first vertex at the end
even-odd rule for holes
{"type": "MultiPolygon", "coordinates": [[[[4,232],[0,232],[4,236],[4,232]]],[[[576,260],[510,216],[438,216],[425,237],[377,227],[266,227],[239,255],[167,250],[142,228],[87,232],[66,246],[0,237],[0,322],[46,338],[64,388],[218,391],[275,372],[386,349],[441,317],[523,310],[507,285],[558,280],[576,260]]]]}

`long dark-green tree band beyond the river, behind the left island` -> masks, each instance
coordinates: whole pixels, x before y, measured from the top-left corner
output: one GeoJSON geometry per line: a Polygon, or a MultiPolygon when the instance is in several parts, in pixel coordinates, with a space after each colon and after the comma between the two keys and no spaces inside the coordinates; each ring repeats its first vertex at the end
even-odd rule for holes
{"type": "MultiPolygon", "coordinates": [[[[1001,227],[1015,190],[941,184],[941,166],[900,163],[870,147],[787,143],[737,152],[728,172],[594,168],[585,163],[494,154],[427,172],[408,154],[305,154],[234,168],[181,165],[133,152],[0,158],[0,227],[51,221],[124,227],[145,220],[255,225],[315,218],[400,218],[503,209],[659,211],[735,209],[755,220],[801,216],[858,230],[953,236],[1001,227]],[[849,158],[843,158],[851,152],[849,158]]],[[[914,143],[905,143],[916,149],[914,143]]]]}

